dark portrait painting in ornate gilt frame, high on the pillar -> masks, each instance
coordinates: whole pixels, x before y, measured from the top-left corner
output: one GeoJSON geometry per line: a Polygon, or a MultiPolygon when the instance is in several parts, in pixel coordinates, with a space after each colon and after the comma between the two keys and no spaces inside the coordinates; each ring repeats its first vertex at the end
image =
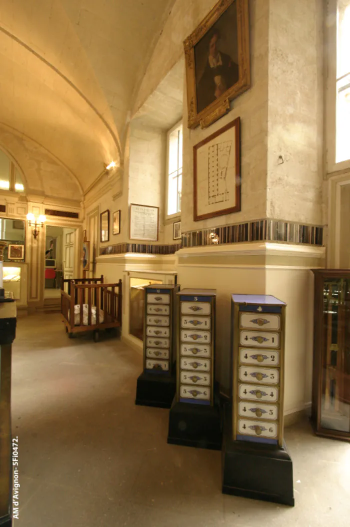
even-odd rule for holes
{"type": "Polygon", "coordinates": [[[220,0],[183,46],[188,128],[206,128],[250,87],[248,0],[220,0]]]}

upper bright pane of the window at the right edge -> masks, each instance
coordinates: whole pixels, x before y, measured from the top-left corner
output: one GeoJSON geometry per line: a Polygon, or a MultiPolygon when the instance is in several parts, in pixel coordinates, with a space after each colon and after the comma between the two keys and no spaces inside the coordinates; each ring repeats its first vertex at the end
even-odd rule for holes
{"type": "Polygon", "coordinates": [[[350,1],[338,2],[337,79],[350,72],[350,1]]]}

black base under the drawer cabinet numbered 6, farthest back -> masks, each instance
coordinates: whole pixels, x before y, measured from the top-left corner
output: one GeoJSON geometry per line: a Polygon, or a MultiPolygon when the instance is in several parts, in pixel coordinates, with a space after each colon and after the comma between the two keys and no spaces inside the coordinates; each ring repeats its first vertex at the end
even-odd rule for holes
{"type": "Polygon", "coordinates": [[[170,408],[175,392],[175,376],[142,373],[137,382],[135,404],[170,408]]]}

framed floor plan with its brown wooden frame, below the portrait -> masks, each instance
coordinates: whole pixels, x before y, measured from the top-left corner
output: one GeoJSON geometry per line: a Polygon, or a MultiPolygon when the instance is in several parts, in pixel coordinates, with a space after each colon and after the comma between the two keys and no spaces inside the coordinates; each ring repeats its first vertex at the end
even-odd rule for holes
{"type": "Polygon", "coordinates": [[[193,219],[240,211],[240,119],[193,147],[193,219]]]}

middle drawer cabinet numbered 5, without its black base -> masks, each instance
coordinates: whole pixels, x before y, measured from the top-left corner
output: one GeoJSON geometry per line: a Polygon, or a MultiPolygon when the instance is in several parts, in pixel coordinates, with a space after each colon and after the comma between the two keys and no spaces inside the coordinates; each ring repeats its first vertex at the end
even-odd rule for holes
{"type": "Polygon", "coordinates": [[[177,401],[212,406],[216,291],[183,289],[177,296],[177,401]]]}

